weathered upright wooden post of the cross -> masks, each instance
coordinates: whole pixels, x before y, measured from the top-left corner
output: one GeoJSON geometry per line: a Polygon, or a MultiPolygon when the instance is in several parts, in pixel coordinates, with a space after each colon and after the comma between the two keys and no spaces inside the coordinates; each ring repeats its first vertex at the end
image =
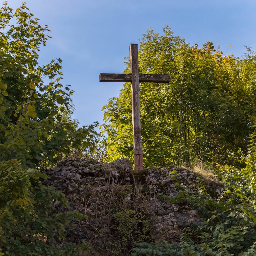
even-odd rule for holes
{"type": "Polygon", "coordinates": [[[132,130],[134,148],[134,169],[143,170],[143,156],[141,143],[140,124],[140,81],[139,81],[139,61],[138,44],[131,44],[130,47],[130,67],[132,74],[131,81],[131,108],[132,108],[132,130]]]}

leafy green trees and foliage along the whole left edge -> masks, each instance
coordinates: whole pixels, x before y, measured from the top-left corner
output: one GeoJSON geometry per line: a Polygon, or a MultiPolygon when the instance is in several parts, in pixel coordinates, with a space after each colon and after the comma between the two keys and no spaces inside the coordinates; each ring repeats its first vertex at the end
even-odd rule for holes
{"type": "Polygon", "coordinates": [[[53,213],[55,200],[67,202],[42,184],[43,169],[88,147],[96,132],[71,118],[73,91],[60,83],[61,60],[38,65],[49,30],[28,11],[4,2],[0,12],[0,255],[79,255],[82,245],[54,238],[65,240],[71,220],[86,216],[53,213]]]}

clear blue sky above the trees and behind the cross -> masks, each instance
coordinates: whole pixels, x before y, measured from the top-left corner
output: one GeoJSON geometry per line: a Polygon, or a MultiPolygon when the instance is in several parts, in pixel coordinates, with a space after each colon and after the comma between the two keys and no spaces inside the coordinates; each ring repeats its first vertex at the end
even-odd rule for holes
{"type": "MultiPolygon", "coordinates": [[[[24,0],[9,0],[16,9],[24,0]]],[[[237,57],[244,45],[256,51],[255,0],[27,0],[52,39],[39,64],[62,59],[62,84],[72,85],[73,117],[80,125],[102,123],[102,106],[117,97],[122,83],[99,83],[99,73],[122,73],[129,45],[140,43],[148,27],[166,25],[191,45],[212,41],[237,57]],[[229,46],[232,46],[231,48],[229,46]]]]}

